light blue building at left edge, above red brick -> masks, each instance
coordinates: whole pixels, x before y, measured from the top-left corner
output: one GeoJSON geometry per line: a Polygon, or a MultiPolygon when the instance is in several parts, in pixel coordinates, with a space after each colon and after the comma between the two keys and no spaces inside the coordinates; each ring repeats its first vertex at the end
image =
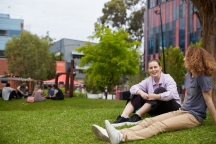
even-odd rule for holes
{"type": "Polygon", "coordinates": [[[0,57],[4,57],[3,51],[6,42],[13,35],[19,36],[23,28],[23,19],[11,18],[9,14],[0,14],[0,57]]]}

